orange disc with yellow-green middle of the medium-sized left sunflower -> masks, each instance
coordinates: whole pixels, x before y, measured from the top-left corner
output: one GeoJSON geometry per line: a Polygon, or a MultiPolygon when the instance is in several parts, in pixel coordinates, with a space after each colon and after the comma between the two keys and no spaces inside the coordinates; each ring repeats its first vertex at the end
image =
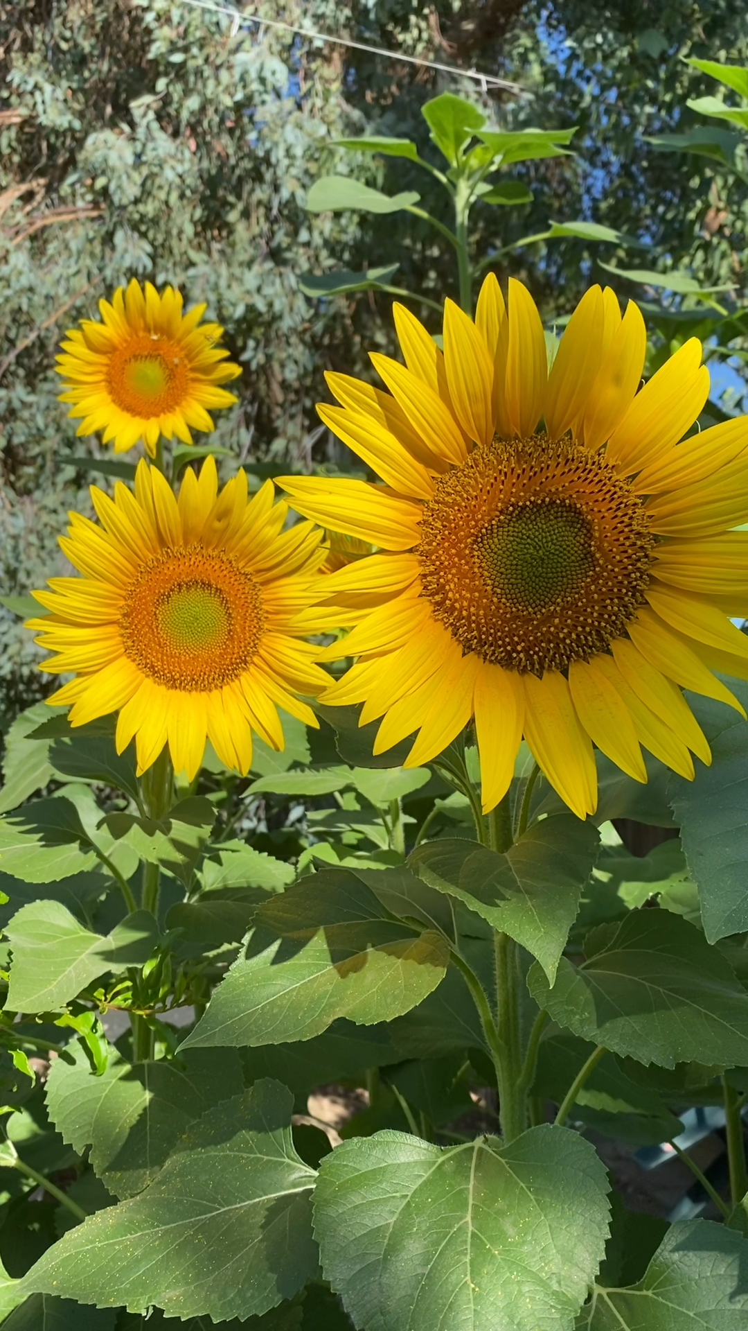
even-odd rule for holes
{"type": "Polygon", "coordinates": [[[208,692],[237,679],[262,638],[254,579],[225,554],[173,547],[149,559],[128,588],[120,632],[125,656],[149,679],[208,692]]]}

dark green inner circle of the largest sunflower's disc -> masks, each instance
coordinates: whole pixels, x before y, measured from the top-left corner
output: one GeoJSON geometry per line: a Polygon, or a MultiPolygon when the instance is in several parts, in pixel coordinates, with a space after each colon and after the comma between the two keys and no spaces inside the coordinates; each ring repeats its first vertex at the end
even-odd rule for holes
{"type": "Polygon", "coordinates": [[[478,532],[475,552],[494,591],[516,610],[544,610],[595,567],[590,519],[567,499],[504,510],[478,532]]]}

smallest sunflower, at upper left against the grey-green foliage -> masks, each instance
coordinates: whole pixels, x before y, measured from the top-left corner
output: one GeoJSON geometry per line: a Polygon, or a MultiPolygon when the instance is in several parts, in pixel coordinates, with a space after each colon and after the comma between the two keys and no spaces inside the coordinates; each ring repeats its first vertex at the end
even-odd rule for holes
{"type": "Polygon", "coordinates": [[[229,407],[237,399],[220,387],[241,374],[216,346],[224,329],[201,323],[205,305],[182,314],[182,297],[172,286],[145,291],[133,277],[118,286],[112,302],[100,301],[102,322],[83,319],[68,329],[57,357],[68,415],[83,421],[77,434],[104,431],[124,453],[142,439],[153,457],[160,435],[192,443],[190,426],[213,430],[208,407],[229,407]]]}

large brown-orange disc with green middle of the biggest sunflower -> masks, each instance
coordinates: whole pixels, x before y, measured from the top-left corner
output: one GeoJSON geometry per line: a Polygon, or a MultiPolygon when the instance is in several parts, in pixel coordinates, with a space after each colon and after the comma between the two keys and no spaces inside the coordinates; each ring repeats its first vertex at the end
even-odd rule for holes
{"type": "Polygon", "coordinates": [[[494,439],[435,482],[418,546],[434,615],[466,652],[542,675],[608,648],[644,602],[654,535],[604,457],[494,439]]]}

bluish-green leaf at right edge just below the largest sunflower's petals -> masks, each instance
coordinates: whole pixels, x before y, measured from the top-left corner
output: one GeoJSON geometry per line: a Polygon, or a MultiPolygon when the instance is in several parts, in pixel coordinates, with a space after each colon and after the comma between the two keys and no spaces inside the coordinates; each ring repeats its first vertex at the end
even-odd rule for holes
{"type": "MultiPolygon", "coordinates": [[[[748,684],[728,680],[748,708],[748,684]]],[[[695,781],[671,776],[669,797],[709,942],[748,929],[748,723],[724,703],[688,703],[712,749],[695,781]]]]}

